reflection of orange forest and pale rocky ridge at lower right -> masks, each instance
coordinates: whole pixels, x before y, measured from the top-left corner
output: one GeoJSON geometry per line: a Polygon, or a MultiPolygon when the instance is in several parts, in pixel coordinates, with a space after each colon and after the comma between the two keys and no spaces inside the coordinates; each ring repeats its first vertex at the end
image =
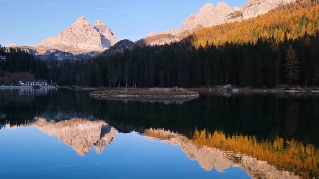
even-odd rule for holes
{"type": "Polygon", "coordinates": [[[254,136],[227,137],[222,131],[210,134],[206,130],[196,130],[192,139],[162,129],[147,129],[145,135],[151,140],[180,145],[182,151],[191,160],[198,161],[205,171],[215,167],[223,172],[231,166],[240,167],[257,179],[313,178],[319,173],[319,150],[297,141],[284,142],[278,138],[273,143],[259,143],[254,136]]]}

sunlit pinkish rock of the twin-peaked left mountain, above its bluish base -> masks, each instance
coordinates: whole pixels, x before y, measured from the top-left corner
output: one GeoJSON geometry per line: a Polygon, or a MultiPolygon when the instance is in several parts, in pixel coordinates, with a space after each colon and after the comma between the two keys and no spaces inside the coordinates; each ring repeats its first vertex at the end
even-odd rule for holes
{"type": "Polygon", "coordinates": [[[60,31],[57,36],[44,39],[33,49],[37,51],[36,55],[48,55],[52,50],[78,55],[102,52],[117,42],[115,32],[101,20],[98,19],[92,27],[85,17],[79,17],[64,32],[60,31]]]}

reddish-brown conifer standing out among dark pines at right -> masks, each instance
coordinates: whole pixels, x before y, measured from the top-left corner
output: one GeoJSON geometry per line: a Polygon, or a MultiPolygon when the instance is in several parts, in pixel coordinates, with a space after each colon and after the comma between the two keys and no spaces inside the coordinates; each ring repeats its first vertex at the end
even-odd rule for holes
{"type": "Polygon", "coordinates": [[[285,66],[284,72],[287,78],[287,83],[288,84],[296,83],[299,80],[300,61],[292,45],[289,46],[285,59],[286,59],[286,63],[284,64],[285,66]]]}

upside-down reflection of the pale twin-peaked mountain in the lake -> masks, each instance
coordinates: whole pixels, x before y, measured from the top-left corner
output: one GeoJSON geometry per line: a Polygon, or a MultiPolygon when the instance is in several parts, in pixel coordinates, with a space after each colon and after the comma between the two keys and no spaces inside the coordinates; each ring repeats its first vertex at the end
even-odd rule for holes
{"type": "Polygon", "coordinates": [[[115,140],[117,131],[104,121],[91,121],[72,118],[59,122],[48,122],[45,118],[36,118],[30,124],[42,132],[58,137],[66,145],[71,146],[77,154],[84,156],[92,147],[97,153],[115,140]]]}

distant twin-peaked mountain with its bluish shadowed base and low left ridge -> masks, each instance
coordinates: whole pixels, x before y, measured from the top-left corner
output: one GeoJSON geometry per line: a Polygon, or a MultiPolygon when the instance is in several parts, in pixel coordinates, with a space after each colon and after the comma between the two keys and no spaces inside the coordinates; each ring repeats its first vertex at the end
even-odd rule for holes
{"type": "Polygon", "coordinates": [[[8,44],[8,47],[20,47],[40,59],[74,59],[92,57],[100,54],[116,44],[115,32],[111,31],[104,22],[97,20],[92,27],[85,17],[79,17],[64,32],[57,36],[48,37],[36,46],[18,46],[8,44]]]}

